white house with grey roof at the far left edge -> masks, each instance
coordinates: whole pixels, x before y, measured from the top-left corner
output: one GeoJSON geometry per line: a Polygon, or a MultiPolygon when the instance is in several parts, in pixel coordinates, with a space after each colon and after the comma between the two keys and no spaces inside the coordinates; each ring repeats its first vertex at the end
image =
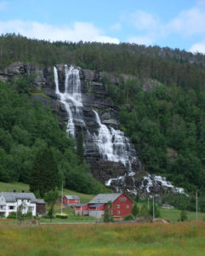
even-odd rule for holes
{"type": "Polygon", "coordinates": [[[11,212],[21,208],[22,213],[37,213],[37,198],[33,193],[1,192],[0,215],[8,217],[11,212]]]}

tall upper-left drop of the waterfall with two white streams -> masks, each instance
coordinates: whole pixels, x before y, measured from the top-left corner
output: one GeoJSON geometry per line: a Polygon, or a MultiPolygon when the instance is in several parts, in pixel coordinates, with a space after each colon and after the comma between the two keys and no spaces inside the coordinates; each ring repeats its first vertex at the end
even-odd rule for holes
{"type": "Polygon", "coordinates": [[[79,70],[75,67],[65,65],[65,91],[60,92],[57,68],[54,67],[55,93],[59,96],[60,102],[65,105],[68,114],[67,134],[75,137],[75,122],[84,125],[82,118],[81,81],[79,70]],[[75,121],[75,122],[74,122],[75,121]]]}

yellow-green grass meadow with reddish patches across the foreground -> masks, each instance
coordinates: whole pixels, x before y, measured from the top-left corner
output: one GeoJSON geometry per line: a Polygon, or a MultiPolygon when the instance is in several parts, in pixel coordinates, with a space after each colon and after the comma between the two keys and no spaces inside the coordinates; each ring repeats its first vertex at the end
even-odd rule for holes
{"type": "Polygon", "coordinates": [[[205,255],[205,222],[0,225],[0,255],[205,255]]]}

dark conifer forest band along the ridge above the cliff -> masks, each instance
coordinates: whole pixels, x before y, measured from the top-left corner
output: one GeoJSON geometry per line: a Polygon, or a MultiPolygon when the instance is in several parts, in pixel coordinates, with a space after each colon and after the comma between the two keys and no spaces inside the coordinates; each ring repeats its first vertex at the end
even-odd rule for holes
{"type": "Polygon", "coordinates": [[[51,44],[10,34],[1,36],[0,68],[14,61],[30,61],[44,67],[72,63],[82,68],[149,77],[185,89],[205,88],[205,56],[179,49],[137,44],[51,44]]]}

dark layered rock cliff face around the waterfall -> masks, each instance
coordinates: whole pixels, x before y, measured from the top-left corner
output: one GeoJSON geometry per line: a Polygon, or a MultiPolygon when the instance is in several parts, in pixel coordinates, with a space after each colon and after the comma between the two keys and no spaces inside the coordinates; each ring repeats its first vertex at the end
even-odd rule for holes
{"type": "MultiPolygon", "coordinates": [[[[65,65],[56,65],[60,93],[65,92],[65,69],[65,65]]],[[[129,145],[126,137],[123,141],[127,143],[125,148],[130,147],[128,150],[133,151],[130,155],[134,154],[134,157],[131,157],[132,161],[129,166],[122,163],[122,161],[106,160],[105,157],[102,157],[99,142],[96,143],[99,140],[100,132],[103,128],[104,130],[115,131],[116,137],[120,132],[118,132],[120,128],[117,118],[118,108],[113,106],[106,92],[104,81],[106,79],[112,84],[118,84],[119,80],[110,73],[96,72],[78,67],[77,70],[81,84],[81,103],[83,107],[80,109],[80,118],[75,120],[75,136],[77,137],[78,131],[83,131],[85,158],[90,165],[94,177],[102,183],[110,185],[111,189],[134,194],[139,193],[144,197],[151,193],[162,195],[173,190],[174,187],[167,183],[166,180],[148,176],[144,172],[143,166],[137,157],[137,152],[132,148],[132,145],[129,145]],[[96,114],[98,114],[100,121],[96,120],[96,114]]],[[[60,98],[55,91],[54,68],[43,68],[31,63],[16,62],[4,70],[0,70],[0,79],[7,82],[14,76],[25,73],[34,74],[33,85],[36,86],[37,91],[41,91],[45,95],[42,96],[42,94],[34,93],[31,99],[37,99],[44,104],[49,104],[53,108],[54,113],[58,114],[60,125],[65,126],[69,119],[68,112],[65,104],[60,102],[60,98]]]]}

